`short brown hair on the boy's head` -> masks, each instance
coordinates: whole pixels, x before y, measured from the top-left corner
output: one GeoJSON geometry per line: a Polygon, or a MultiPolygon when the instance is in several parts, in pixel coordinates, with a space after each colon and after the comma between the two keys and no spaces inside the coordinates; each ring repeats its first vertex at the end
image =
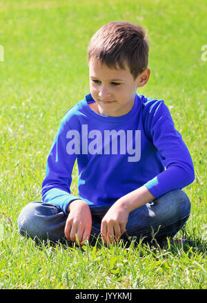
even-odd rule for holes
{"type": "Polygon", "coordinates": [[[88,62],[99,61],[110,68],[128,65],[134,79],[148,66],[146,30],[138,24],[113,21],[103,25],[90,40],[88,62]]]}

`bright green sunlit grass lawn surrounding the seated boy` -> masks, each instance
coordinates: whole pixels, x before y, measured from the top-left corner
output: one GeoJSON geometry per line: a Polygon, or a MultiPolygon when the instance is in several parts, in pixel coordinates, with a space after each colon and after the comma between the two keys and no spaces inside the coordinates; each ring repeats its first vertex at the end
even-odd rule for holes
{"type": "Polygon", "coordinates": [[[201,0],[1,1],[1,289],[206,289],[206,9],[201,0]],[[119,20],[148,28],[151,76],[137,93],[164,98],[193,158],[195,182],[184,189],[191,214],[176,236],[193,247],[38,247],[19,236],[17,217],[41,200],[61,118],[89,92],[90,37],[119,20]]]}

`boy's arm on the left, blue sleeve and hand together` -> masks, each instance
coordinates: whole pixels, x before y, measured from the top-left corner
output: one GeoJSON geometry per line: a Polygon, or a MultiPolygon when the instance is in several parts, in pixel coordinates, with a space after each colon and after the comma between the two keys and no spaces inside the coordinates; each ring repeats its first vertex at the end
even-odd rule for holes
{"type": "Polygon", "coordinates": [[[67,152],[69,130],[68,125],[62,121],[47,159],[42,200],[58,205],[68,215],[65,236],[68,240],[83,245],[81,242],[90,237],[92,218],[87,203],[70,194],[72,169],[77,155],[67,152]]]}

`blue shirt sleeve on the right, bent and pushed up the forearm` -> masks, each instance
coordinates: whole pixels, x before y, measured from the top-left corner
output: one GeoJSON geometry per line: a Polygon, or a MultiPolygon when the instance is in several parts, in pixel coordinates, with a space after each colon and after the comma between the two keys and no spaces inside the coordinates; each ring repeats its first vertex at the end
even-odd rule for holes
{"type": "Polygon", "coordinates": [[[155,198],[159,198],[172,189],[188,186],[195,180],[195,172],[188,148],[175,129],[164,101],[157,101],[150,106],[146,120],[148,135],[161,154],[166,170],[144,186],[155,198]]]}

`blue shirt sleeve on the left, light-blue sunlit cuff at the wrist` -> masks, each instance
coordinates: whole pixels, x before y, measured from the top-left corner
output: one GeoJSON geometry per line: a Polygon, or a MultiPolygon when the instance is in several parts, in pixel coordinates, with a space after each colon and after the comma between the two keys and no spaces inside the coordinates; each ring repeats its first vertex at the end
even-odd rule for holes
{"type": "Polygon", "coordinates": [[[55,140],[52,143],[46,163],[46,176],[42,182],[41,197],[43,202],[58,205],[66,214],[68,204],[79,199],[70,193],[72,169],[77,154],[67,153],[67,133],[70,130],[66,123],[61,122],[55,140]]]}

